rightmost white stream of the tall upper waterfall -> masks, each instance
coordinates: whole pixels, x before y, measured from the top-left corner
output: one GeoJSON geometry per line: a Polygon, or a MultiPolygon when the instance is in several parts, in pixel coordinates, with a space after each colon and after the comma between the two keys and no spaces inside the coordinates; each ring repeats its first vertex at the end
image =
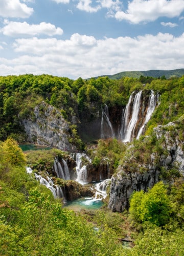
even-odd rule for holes
{"type": "Polygon", "coordinates": [[[147,109],[145,121],[144,121],[142,127],[140,128],[139,133],[137,134],[136,139],[139,139],[139,137],[140,137],[141,134],[143,133],[143,129],[144,129],[145,125],[146,125],[147,122],[150,120],[151,115],[153,114],[153,111],[154,111],[155,106],[156,106],[156,98],[157,98],[156,95],[155,95],[154,92],[151,90],[151,95],[149,96],[148,109],[147,109]]]}

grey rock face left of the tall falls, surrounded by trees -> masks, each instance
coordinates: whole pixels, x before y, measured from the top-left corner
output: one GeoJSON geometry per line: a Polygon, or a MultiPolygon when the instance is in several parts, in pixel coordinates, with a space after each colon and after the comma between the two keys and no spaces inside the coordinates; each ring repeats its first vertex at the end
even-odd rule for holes
{"type": "Polygon", "coordinates": [[[76,150],[68,141],[69,126],[54,106],[42,102],[34,109],[34,116],[21,120],[27,141],[56,147],[60,150],[76,150]]]}

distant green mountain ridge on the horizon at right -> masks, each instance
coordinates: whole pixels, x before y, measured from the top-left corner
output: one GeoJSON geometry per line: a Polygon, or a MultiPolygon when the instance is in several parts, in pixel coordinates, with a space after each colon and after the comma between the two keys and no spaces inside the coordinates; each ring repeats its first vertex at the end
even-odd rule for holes
{"type": "MultiPolygon", "coordinates": [[[[120,79],[124,76],[140,78],[140,76],[151,76],[151,77],[162,77],[165,76],[167,79],[171,77],[181,77],[184,75],[184,69],[173,69],[173,70],[148,70],[148,71],[124,71],[114,75],[106,75],[111,79],[120,79]]],[[[104,77],[105,75],[103,75],[104,77]]],[[[98,78],[98,77],[96,77],[98,78]]]]}

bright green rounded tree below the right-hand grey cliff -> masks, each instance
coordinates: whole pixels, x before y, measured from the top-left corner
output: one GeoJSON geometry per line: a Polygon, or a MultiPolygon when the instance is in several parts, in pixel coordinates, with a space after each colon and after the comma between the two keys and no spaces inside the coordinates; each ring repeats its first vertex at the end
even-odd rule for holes
{"type": "Polygon", "coordinates": [[[136,191],[130,201],[130,217],[138,223],[149,221],[157,226],[169,222],[171,201],[163,182],[158,182],[147,193],[136,191]]]}

